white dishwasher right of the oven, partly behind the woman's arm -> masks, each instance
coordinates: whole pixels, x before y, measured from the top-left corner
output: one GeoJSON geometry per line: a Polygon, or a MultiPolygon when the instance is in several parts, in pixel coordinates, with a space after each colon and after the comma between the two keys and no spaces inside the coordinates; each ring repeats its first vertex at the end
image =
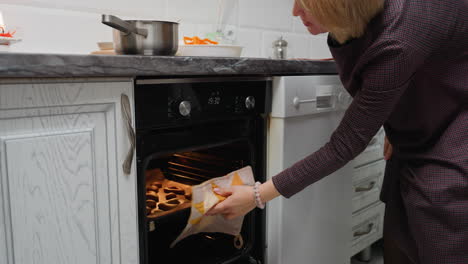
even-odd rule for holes
{"type": "MultiPolygon", "coordinates": [[[[269,177],[328,142],[350,102],[338,76],[282,77],[273,87],[269,177]]],[[[349,263],[351,175],[345,166],[291,199],[268,203],[268,264],[349,263]]]]}

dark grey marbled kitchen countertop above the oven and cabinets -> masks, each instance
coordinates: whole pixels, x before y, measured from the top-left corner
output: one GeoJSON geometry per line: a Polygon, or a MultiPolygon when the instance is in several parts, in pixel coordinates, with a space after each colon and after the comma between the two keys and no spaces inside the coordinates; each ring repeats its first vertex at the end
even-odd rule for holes
{"type": "Polygon", "coordinates": [[[333,61],[0,53],[0,78],[336,74],[333,61]]]}

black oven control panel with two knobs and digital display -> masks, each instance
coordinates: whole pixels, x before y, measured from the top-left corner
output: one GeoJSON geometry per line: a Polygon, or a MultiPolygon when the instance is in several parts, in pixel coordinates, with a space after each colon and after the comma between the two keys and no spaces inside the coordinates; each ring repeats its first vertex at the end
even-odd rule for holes
{"type": "Polygon", "coordinates": [[[155,127],[266,113],[269,89],[269,81],[142,84],[136,87],[136,122],[139,127],[155,127]]]}

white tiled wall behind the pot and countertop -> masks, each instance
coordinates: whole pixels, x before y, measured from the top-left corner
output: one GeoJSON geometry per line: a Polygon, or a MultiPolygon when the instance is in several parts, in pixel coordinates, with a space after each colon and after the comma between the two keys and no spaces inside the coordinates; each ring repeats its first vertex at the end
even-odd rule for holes
{"type": "Polygon", "coordinates": [[[312,36],[291,15],[294,0],[0,0],[5,24],[22,42],[14,52],[88,54],[96,42],[112,41],[101,14],[126,19],[180,21],[180,36],[204,36],[220,24],[232,30],[244,57],[270,57],[272,42],[283,36],[288,57],[328,58],[326,36],[312,36]],[[224,1],[220,15],[218,2],[224,1]],[[221,21],[219,21],[222,18],[221,21]]]}

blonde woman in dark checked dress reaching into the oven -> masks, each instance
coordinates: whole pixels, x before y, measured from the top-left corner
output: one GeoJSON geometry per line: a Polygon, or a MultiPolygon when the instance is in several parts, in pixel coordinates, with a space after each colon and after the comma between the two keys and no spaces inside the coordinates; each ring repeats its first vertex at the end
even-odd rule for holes
{"type": "MultiPolygon", "coordinates": [[[[354,97],[330,142],[209,214],[234,218],[291,197],[362,152],[383,125],[393,153],[386,203],[388,263],[468,263],[468,1],[296,0],[354,97]],[[257,195],[257,199],[255,199],[257,195]]],[[[387,153],[387,156],[389,153],[387,153]]]]}

